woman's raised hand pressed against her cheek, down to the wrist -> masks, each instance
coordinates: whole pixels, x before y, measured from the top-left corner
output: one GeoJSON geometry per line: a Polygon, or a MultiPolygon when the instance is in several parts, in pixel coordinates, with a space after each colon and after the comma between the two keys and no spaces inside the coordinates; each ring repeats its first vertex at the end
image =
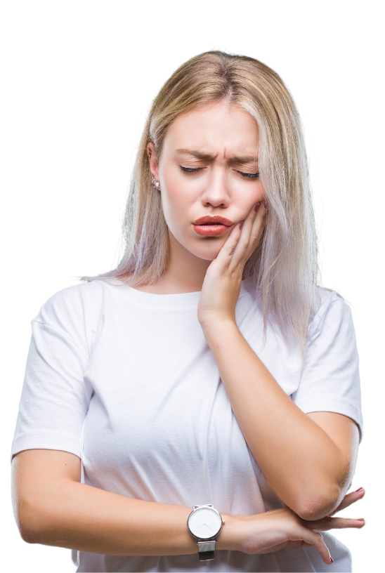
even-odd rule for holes
{"type": "Polygon", "coordinates": [[[197,318],[201,327],[214,322],[235,321],[244,265],[261,241],[266,225],[264,202],[252,206],[242,230],[237,223],[204,277],[197,318]],[[255,207],[258,206],[255,211],[255,207]]]}

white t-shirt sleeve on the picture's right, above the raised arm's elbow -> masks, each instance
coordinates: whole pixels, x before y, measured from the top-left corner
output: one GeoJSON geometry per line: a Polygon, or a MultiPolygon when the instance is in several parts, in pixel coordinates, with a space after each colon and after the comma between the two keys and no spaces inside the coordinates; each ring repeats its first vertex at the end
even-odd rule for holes
{"type": "Polygon", "coordinates": [[[306,360],[295,404],[308,414],[332,411],[353,419],[363,442],[360,357],[353,314],[334,292],[326,292],[308,330],[306,360]]]}

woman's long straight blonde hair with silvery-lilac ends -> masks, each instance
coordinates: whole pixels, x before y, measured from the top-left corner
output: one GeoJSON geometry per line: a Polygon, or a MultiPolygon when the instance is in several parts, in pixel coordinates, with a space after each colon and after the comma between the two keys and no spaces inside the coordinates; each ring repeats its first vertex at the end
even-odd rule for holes
{"type": "MultiPolygon", "coordinates": [[[[263,344],[267,323],[275,323],[289,348],[299,346],[304,361],[308,325],[320,303],[317,288],[335,291],[353,314],[358,312],[336,286],[322,282],[323,245],[313,197],[316,176],[311,173],[311,152],[307,151],[308,138],[296,100],[278,72],[249,55],[211,48],[171,72],[148,105],[133,147],[134,160],[131,153],[119,260],[118,242],[109,270],[70,278],[132,287],[158,282],[169,264],[169,235],[160,193],[152,185],[148,143],[152,141],[159,158],[164,136],[176,117],[221,101],[248,112],[259,127],[259,173],[268,218],[243,277],[255,308],[263,312],[263,344]]],[[[319,189],[315,192],[320,197],[319,189]]]]}

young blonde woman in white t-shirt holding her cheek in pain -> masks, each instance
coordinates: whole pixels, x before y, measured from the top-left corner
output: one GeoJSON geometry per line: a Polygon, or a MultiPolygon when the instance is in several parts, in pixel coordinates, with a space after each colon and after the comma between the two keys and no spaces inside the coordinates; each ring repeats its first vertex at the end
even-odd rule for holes
{"type": "MultiPolygon", "coordinates": [[[[351,573],[350,303],[322,283],[301,114],[216,49],[150,103],[107,272],[48,298],[11,447],[27,544],[79,573],[351,573]],[[320,532],[323,532],[320,534],[320,532]]],[[[70,277],[71,278],[71,277],[70,277]]]]}

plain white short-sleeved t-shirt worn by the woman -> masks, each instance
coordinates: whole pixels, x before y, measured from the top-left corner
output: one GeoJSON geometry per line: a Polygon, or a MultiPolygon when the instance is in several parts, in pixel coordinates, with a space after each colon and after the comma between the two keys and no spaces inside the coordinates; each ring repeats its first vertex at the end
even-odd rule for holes
{"type": "MultiPolygon", "coordinates": [[[[242,335],[305,413],[333,411],[360,426],[359,355],[351,309],[318,289],[306,364],[268,327],[242,281],[242,335]]],[[[158,295],[103,281],[56,292],[31,320],[11,456],[56,449],[81,459],[81,483],[136,499],[252,515],[285,503],[244,440],[197,320],[200,292],[158,295]]],[[[242,381],[240,381],[242,383],[242,381]]],[[[279,423],[279,421],[278,421],[279,423]]],[[[187,523],[186,523],[187,529],[187,523]]],[[[351,551],[322,532],[334,573],[351,573],[351,551]]],[[[352,538],[353,539],[353,538],[352,538]]],[[[329,573],[314,548],[266,555],[215,551],[121,557],[71,551],[77,573],[329,573]]]]}

